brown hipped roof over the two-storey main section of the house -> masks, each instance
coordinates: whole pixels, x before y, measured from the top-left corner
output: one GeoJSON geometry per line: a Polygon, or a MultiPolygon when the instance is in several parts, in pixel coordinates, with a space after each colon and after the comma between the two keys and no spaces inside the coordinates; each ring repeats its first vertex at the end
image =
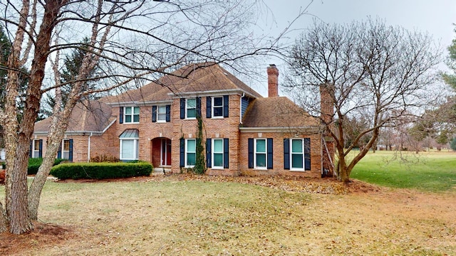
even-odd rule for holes
{"type": "Polygon", "coordinates": [[[108,104],[125,102],[158,102],[172,100],[176,95],[204,92],[239,90],[252,97],[261,97],[258,92],[244,84],[224,68],[214,63],[186,65],[171,75],[165,75],[136,90],[101,99],[108,104]]]}

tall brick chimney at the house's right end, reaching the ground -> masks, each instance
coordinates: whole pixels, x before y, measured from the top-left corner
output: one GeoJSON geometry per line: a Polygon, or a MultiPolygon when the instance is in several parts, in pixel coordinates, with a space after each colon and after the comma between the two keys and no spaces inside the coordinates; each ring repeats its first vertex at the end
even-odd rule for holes
{"type": "Polygon", "coordinates": [[[334,139],[331,137],[331,130],[334,128],[333,116],[334,116],[334,85],[326,82],[320,85],[320,119],[321,123],[325,127],[323,132],[323,156],[322,164],[323,171],[322,177],[331,177],[334,173],[334,153],[336,151],[334,139]]]}

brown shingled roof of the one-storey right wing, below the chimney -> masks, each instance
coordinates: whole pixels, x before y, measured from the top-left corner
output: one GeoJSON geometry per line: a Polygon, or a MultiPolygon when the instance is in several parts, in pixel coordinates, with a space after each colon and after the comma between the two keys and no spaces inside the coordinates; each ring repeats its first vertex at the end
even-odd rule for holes
{"type": "Polygon", "coordinates": [[[264,97],[250,103],[242,127],[318,128],[319,122],[287,97],[264,97]]]}

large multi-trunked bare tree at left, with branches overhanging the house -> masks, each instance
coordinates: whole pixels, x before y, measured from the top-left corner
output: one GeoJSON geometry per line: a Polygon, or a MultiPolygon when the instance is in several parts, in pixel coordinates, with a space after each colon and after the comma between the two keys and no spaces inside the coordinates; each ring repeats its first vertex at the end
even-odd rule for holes
{"type": "Polygon", "coordinates": [[[8,170],[0,232],[21,234],[33,228],[43,184],[81,97],[153,80],[190,62],[225,63],[241,70],[237,60],[267,54],[275,47],[276,41],[253,38],[249,31],[259,4],[262,1],[1,1],[0,21],[12,47],[7,65],[1,66],[8,71],[5,107],[0,110],[8,170]],[[89,39],[81,46],[84,37],[89,39]],[[58,77],[60,56],[76,48],[85,51],[78,75],[63,82],[58,77]],[[48,63],[53,67],[50,72],[48,63]],[[29,74],[21,74],[23,65],[29,74]],[[17,90],[21,75],[28,76],[24,99],[17,90]],[[98,81],[95,89],[85,87],[90,79],[98,81]],[[63,101],[65,85],[71,90],[63,101]],[[28,189],[29,139],[46,92],[56,95],[56,106],[46,156],[28,189]],[[21,120],[16,115],[18,100],[26,106],[21,120]]]}

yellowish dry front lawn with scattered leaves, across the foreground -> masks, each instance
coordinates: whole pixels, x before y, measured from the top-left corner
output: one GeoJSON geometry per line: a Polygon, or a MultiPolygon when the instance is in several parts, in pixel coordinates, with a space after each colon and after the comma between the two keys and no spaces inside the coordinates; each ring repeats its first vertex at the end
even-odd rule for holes
{"type": "Polygon", "coordinates": [[[4,235],[0,255],[456,255],[455,193],[183,177],[47,183],[38,217],[68,231],[4,235]]]}

